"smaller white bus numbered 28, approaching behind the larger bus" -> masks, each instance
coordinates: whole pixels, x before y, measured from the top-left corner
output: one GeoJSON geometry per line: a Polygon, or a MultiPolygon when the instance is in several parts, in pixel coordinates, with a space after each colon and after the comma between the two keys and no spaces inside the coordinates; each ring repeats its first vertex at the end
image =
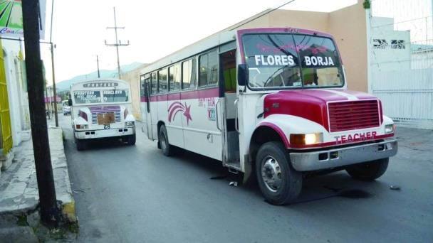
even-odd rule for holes
{"type": "Polygon", "coordinates": [[[130,85],[123,80],[95,79],[71,86],[72,127],[77,149],[87,142],[115,137],[135,144],[130,85]]]}

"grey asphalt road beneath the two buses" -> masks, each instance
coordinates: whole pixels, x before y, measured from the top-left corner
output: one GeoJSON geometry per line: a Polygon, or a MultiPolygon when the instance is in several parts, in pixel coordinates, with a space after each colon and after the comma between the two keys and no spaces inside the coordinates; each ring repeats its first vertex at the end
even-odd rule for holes
{"type": "Polygon", "coordinates": [[[217,161],[163,156],[140,129],[135,146],[78,152],[71,118],[60,121],[78,242],[433,242],[433,131],[398,129],[400,151],[373,183],[323,175],[298,203],[273,206],[257,186],[229,186],[217,161]]]}

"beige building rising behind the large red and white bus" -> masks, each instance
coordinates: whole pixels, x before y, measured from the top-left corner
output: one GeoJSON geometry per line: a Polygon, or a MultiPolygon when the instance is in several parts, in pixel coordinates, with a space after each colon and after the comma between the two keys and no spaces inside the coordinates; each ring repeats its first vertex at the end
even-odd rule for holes
{"type": "MultiPolygon", "coordinates": [[[[362,0],[358,0],[358,4],[330,13],[284,9],[267,12],[269,10],[251,16],[221,32],[233,28],[292,27],[330,33],[337,42],[345,65],[348,88],[367,92],[367,15],[362,0]]],[[[137,119],[141,119],[140,70],[144,67],[145,65],[142,65],[122,77],[131,84],[133,113],[137,119]]]]}

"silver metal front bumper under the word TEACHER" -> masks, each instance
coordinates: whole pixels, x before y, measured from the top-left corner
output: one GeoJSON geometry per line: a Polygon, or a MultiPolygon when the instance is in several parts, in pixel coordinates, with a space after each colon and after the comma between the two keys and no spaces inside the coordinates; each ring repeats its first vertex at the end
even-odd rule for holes
{"type": "Polygon", "coordinates": [[[318,171],[389,158],[395,156],[397,149],[397,140],[390,139],[375,144],[333,148],[325,151],[292,152],[290,158],[296,171],[318,171]]]}

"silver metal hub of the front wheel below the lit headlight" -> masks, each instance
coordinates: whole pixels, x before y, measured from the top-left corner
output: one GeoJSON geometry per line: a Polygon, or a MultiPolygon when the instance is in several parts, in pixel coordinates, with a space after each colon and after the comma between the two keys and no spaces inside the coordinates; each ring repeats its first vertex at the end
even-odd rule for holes
{"type": "Polygon", "coordinates": [[[266,188],[272,192],[276,192],[281,188],[281,167],[278,161],[272,156],[267,156],[261,166],[261,177],[264,180],[266,188]]]}

